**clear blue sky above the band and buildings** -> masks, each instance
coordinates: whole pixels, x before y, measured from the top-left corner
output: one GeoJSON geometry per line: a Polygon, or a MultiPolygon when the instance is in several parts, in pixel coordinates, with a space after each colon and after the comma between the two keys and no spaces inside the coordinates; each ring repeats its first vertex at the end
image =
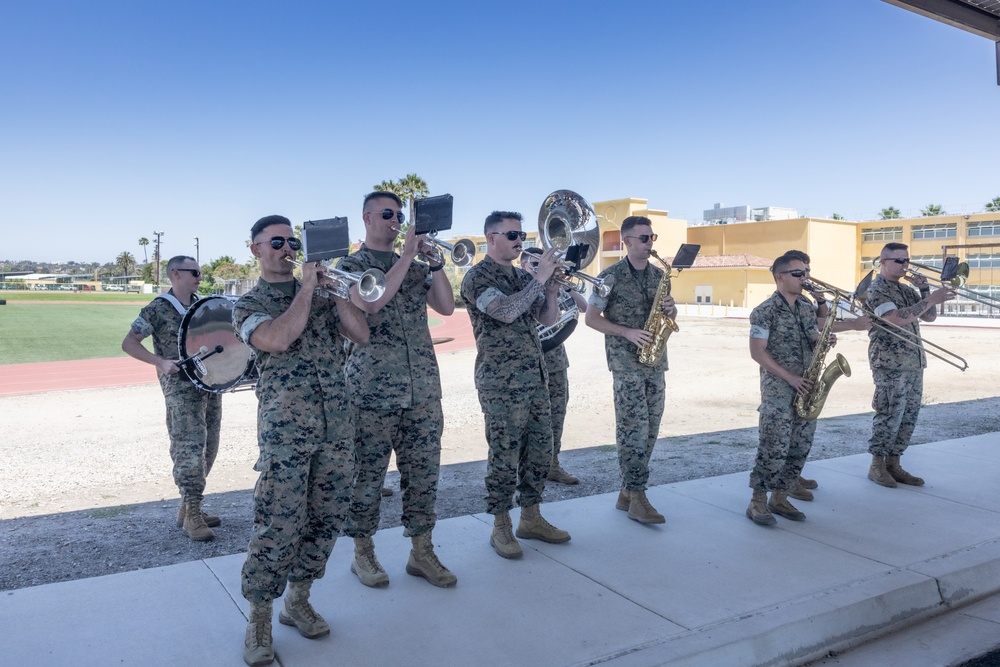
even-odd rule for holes
{"type": "Polygon", "coordinates": [[[551,191],[873,219],[1000,196],[993,43],[878,0],[0,5],[0,259],[249,257],[415,172],[533,229],[551,191]]]}

